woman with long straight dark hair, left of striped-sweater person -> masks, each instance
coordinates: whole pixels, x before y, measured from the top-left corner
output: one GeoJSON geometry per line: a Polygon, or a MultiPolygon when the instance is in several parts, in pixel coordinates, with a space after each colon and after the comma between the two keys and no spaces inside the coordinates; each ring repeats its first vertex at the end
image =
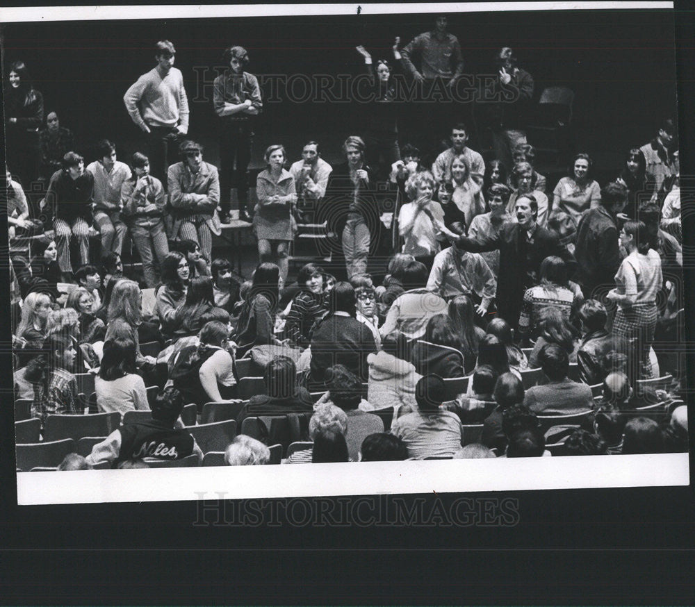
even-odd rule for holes
{"type": "Polygon", "coordinates": [[[251,290],[237,323],[238,358],[242,358],[254,346],[282,344],[275,337],[279,288],[280,269],[275,263],[261,263],[256,267],[251,290]]]}

